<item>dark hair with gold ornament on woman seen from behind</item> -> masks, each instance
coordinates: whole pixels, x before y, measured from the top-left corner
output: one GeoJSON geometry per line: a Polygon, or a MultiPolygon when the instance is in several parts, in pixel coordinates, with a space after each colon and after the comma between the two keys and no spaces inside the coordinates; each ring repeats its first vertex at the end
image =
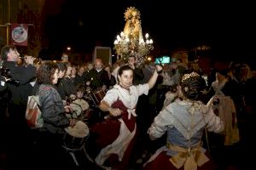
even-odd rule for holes
{"type": "Polygon", "coordinates": [[[202,90],[206,88],[206,82],[199,74],[192,72],[183,75],[180,86],[184,97],[198,100],[201,97],[202,90]]]}

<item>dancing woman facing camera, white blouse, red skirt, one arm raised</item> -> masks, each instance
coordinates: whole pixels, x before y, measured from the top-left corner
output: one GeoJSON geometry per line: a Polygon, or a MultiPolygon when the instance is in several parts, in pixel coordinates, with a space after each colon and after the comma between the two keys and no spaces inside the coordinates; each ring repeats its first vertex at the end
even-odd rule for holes
{"type": "Polygon", "coordinates": [[[95,159],[98,165],[107,166],[108,162],[114,169],[127,168],[137,135],[137,100],[140,95],[148,94],[148,90],[154,87],[162,67],[157,65],[156,69],[148,83],[134,86],[133,69],[129,65],[119,68],[119,84],[108,90],[99,106],[102,111],[108,111],[109,116],[115,118],[90,128],[91,133],[98,133],[96,142],[102,146],[95,159]]]}

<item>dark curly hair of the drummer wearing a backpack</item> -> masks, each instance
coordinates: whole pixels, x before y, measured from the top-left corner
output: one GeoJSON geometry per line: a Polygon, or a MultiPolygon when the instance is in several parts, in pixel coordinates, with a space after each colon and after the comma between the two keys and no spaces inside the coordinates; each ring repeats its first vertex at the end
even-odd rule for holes
{"type": "Polygon", "coordinates": [[[53,61],[44,61],[37,71],[37,82],[52,84],[55,70],[58,69],[53,61]]]}

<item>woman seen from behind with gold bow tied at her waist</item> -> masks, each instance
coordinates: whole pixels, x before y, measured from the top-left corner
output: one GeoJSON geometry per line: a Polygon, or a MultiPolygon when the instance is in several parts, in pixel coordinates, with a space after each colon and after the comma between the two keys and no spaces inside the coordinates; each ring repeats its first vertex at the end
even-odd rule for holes
{"type": "Polygon", "coordinates": [[[202,148],[205,128],[214,133],[224,129],[223,122],[200,100],[205,82],[195,72],[184,74],[177,88],[177,96],[154,118],[148,128],[150,139],[167,133],[166,145],[157,150],[144,169],[213,169],[214,164],[202,148]]]}

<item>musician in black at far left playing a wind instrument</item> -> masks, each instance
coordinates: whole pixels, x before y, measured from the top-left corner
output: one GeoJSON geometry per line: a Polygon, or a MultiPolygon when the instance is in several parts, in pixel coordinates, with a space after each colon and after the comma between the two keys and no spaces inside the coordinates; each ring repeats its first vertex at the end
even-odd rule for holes
{"type": "Polygon", "coordinates": [[[15,162],[13,165],[20,163],[21,167],[22,165],[25,167],[24,159],[27,158],[24,156],[24,152],[28,153],[28,147],[31,147],[30,142],[32,142],[29,140],[25,120],[26,100],[30,95],[26,91],[26,87],[36,76],[36,67],[33,65],[35,58],[26,56],[24,57],[26,65],[17,65],[20,54],[13,45],[4,46],[1,50],[1,57],[3,59],[2,69],[6,72],[4,77],[7,78],[9,126],[5,129],[8,131],[6,139],[9,144],[10,158],[12,162],[15,162]],[[18,144],[17,141],[19,141],[18,144]]]}

